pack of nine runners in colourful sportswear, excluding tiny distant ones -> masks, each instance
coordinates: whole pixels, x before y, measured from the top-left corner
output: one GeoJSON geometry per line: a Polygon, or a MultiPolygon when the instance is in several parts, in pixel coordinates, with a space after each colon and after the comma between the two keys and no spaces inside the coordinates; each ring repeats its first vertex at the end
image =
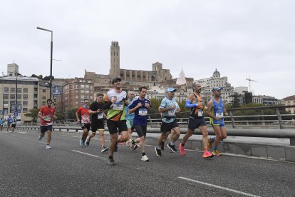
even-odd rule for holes
{"type": "MultiPolygon", "coordinates": [[[[138,89],[138,96],[135,96],[133,91],[123,91],[121,88],[120,77],[115,77],[112,80],[113,90],[108,91],[103,102],[103,94],[96,95],[96,101],[90,104],[89,100],[85,99],[83,106],[76,111],[78,123],[83,128],[83,133],[80,140],[81,147],[87,147],[90,144],[90,139],[95,136],[96,131],[99,131],[101,152],[108,151],[108,164],[113,166],[115,161],[113,158],[114,152],[118,151],[118,143],[126,142],[127,146],[133,148],[140,147],[142,153],[141,161],[149,161],[145,153],[145,138],[148,125],[148,111],[150,111],[151,103],[148,98],[147,88],[141,86],[138,89]],[[107,111],[105,114],[104,111],[107,111]],[[91,116],[91,118],[90,118],[91,116]],[[104,118],[110,133],[110,145],[105,146],[104,137],[104,118]],[[89,133],[91,129],[91,132],[89,133]],[[138,138],[133,139],[131,133],[138,133],[138,138]]],[[[193,93],[187,97],[185,106],[190,108],[190,117],[188,121],[188,130],[182,141],[179,144],[180,154],[185,156],[185,143],[192,136],[196,128],[202,132],[202,147],[204,148],[203,158],[211,158],[213,156],[221,156],[218,151],[218,145],[221,140],[227,137],[224,126],[223,117],[227,116],[227,110],[224,106],[224,101],[220,97],[222,88],[216,87],[212,89],[212,99],[205,106],[202,97],[200,96],[201,85],[198,83],[192,84],[193,93]],[[204,112],[210,117],[214,133],[214,138],[208,138],[207,123],[205,122],[204,112]],[[208,150],[212,148],[212,152],[208,150]]],[[[157,139],[155,153],[157,156],[162,156],[161,150],[164,149],[164,141],[170,134],[170,143],[167,143],[167,148],[172,153],[177,152],[176,142],[180,137],[180,126],[176,120],[176,114],[180,112],[180,106],[175,100],[175,91],[177,89],[166,89],[166,97],[160,103],[159,111],[161,114],[160,137],[157,139]]],[[[43,138],[44,133],[48,132],[47,149],[51,149],[52,122],[55,116],[55,109],[51,106],[51,99],[48,99],[47,105],[43,106],[38,113],[41,118],[41,134],[39,140],[43,138]]]]}

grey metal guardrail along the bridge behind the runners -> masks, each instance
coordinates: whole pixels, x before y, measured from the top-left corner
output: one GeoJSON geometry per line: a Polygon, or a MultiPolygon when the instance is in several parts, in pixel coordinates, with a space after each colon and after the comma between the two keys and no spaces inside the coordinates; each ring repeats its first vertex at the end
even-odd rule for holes
{"type": "MultiPolygon", "coordinates": [[[[253,108],[234,108],[227,109],[229,116],[224,117],[224,123],[227,125],[228,136],[249,136],[249,137],[264,137],[264,138],[290,138],[290,145],[295,146],[295,114],[280,114],[279,108],[290,108],[294,106],[264,106],[253,108]],[[232,111],[238,110],[263,110],[274,109],[276,114],[271,115],[253,115],[253,116],[233,116],[232,111]],[[284,117],[289,116],[292,119],[287,120],[284,117]],[[266,117],[274,118],[275,120],[264,120],[266,117]],[[257,118],[257,120],[239,120],[239,118],[257,118]]],[[[187,113],[188,114],[188,113],[187,113]]],[[[160,133],[160,114],[148,114],[148,132],[160,133]],[[151,118],[151,116],[159,116],[159,118],[151,118]]],[[[187,115],[188,117],[188,115],[187,115]]],[[[205,117],[209,125],[209,118],[205,117]]],[[[187,127],[188,118],[177,118],[181,128],[187,127]]],[[[23,124],[18,126],[23,129],[38,129],[39,126],[35,124],[23,124]]],[[[76,131],[82,130],[74,120],[54,121],[54,130],[76,131]]],[[[106,128],[108,130],[108,128],[106,128]]],[[[186,133],[187,129],[181,129],[182,133],[186,133]]],[[[200,131],[196,131],[201,134],[200,131]]],[[[214,134],[212,128],[209,128],[209,134],[214,134]]]]}

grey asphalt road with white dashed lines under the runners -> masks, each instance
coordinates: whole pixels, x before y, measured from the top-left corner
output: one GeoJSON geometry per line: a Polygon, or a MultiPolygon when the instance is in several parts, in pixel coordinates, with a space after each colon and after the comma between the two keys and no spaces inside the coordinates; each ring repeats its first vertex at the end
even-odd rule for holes
{"type": "MultiPolygon", "coordinates": [[[[35,131],[0,132],[0,196],[295,196],[295,163],[239,156],[203,159],[199,151],[187,156],[155,155],[146,146],[149,162],[119,146],[108,166],[98,140],[88,148],[79,138],[35,131]]],[[[177,143],[178,144],[178,143],[177,143]]]]}

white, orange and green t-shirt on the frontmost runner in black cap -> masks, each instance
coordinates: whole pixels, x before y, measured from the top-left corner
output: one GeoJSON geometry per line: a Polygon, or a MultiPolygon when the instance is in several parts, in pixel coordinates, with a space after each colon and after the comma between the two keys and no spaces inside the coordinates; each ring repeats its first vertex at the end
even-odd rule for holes
{"type": "Polygon", "coordinates": [[[112,121],[125,120],[125,101],[128,99],[127,93],[125,91],[108,91],[105,95],[105,102],[110,103],[114,96],[117,97],[117,101],[116,103],[112,103],[110,108],[108,108],[107,118],[112,121]]]}

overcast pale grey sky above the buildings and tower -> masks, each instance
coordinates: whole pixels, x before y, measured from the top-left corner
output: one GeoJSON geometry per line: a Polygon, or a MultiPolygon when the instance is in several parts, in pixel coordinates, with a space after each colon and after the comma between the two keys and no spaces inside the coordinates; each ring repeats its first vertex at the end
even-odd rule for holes
{"type": "Polygon", "coordinates": [[[177,78],[202,79],[217,69],[232,86],[284,98],[295,94],[295,1],[2,0],[0,71],[83,77],[108,74],[110,42],[120,68],[152,70],[159,61],[177,78]]]}

